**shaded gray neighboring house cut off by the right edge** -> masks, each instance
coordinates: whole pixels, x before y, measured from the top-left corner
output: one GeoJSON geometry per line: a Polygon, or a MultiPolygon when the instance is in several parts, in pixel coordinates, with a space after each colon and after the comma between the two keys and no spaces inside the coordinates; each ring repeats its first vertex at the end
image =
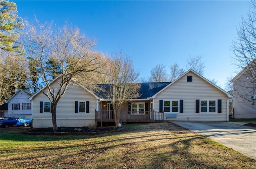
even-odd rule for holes
{"type": "Polygon", "coordinates": [[[256,64],[252,62],[249,66],[230,81],[233,83],[233,118],[235,119],[256,118],[256,64]]]}

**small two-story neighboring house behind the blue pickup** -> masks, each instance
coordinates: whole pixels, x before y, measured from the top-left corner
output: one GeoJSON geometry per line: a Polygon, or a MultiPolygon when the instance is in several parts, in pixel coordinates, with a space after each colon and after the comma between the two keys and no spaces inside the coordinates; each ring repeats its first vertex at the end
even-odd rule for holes
{"type": "Polygon", "coordinates": [[[8,116],[32,119],[32,105],[30,100],[33,93],[19,89],[6,103],[8,103],[8,116]]]}

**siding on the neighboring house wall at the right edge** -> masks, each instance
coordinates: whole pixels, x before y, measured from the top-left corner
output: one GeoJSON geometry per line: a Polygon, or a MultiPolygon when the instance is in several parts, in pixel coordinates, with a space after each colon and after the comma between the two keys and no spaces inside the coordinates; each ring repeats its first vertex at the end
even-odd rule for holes
{"type": "MultiPolygon", "coordinates": [[[[242,75],[233,82],[234,87],[234,118],[256,118],[256,101],[252,102],[251,95],[255,95],[252,82],[242,75]],[[241,95],[243,95],[242,98],[241,95]]],[[[254,87],[255,89],[255,87],[254,87]]]]}

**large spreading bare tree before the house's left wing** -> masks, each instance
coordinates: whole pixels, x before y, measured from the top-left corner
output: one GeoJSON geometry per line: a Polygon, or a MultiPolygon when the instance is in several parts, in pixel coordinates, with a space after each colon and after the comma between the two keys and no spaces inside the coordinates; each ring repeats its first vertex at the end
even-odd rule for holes
{"type": "Polygon", "coordinates": [[[91,40],[77,28],[65,25],[54,30],[52,23],[40,24],[37,20],[36,24],[25,24],[28,30],[23,34],[23,45],[26,56],[30,58],[27,65],[32,58],[36,66],[33,74],[27,74],[28,78],[36,79],[36,84],[30,81],[26,83],[48,97],[52,104],[53,131],[56,131],[57,103],[72,80],[80,74],[97,72],[102,67],[102,55],[94,51],[95,40],[91,40]],[[49,60],[58,65],[58,71],[50,68],[49,60]],[[55,77],[55,83],[52,83],[55,77]],[[45,87],[42,89],[40,86],[45,87]]]}

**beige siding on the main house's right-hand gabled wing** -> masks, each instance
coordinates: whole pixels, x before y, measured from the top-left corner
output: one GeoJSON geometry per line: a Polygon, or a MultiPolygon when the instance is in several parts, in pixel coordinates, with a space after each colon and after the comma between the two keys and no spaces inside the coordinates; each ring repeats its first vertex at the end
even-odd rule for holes
{"type": "Polygon", "coordinates": [[[227,99],[224,92],[193,72],[188,72],[154,98],[154,110],[159,111],[159,100],[183,100],[183,113],[178,112],[176,118],[166,118],[165,113],[164,120],[226,121],[227,99]],[[187,82],[187,76],[193,76],[193,82],[187,82]],[[216,100],[216,112],[217,100],[222,99],[222,113],[196,113],[196,99],[216,100]]]}

